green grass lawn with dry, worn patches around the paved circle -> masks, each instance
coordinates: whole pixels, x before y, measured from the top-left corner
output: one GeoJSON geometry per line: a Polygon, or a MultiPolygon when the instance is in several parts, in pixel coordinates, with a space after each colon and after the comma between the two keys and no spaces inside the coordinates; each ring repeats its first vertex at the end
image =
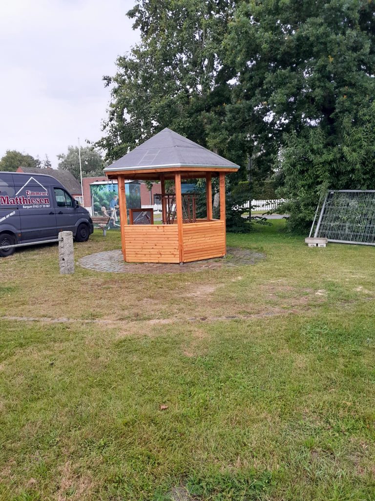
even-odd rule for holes
{"type": "MultiPolygon", "coordinates": [[[[283,224],[227,235],[250,267],[0,260],[0,500],[373,501],[375,249],[283,224]]],[[[95,231],[75,258],[119,246],[95,231]]]]}

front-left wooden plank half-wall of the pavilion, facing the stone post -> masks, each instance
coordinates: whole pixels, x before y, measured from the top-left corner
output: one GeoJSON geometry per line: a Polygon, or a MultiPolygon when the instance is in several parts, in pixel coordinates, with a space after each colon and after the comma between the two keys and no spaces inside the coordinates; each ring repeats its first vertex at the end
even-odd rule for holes
{"type": "Polygon", "coordinates": [[[125,226],[126,261],[179,263],[178,232],[174,224],[125,226]]]}

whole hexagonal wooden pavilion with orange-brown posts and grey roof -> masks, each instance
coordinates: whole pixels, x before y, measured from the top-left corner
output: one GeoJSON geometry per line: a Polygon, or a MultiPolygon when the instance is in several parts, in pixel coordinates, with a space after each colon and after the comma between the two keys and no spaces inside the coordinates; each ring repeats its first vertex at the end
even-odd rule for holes
{"type": "Polygon", "coordinates": [[[104,169],[117,179],[124,261],[186,263],[225,256],[225,174],[239,166],[189,139],[163,129],[104,169]],[[211,179],[219,177],[220,219],[212,217],[211,179]],[[206,179],[207,217],[195,216],[195,196],[181,194],[181,179],[206,179]],[[159,180],[162,224],[128,224],[125,179],[159,180]],[[165,193],[165,180],[175,193],[165,193]]]}

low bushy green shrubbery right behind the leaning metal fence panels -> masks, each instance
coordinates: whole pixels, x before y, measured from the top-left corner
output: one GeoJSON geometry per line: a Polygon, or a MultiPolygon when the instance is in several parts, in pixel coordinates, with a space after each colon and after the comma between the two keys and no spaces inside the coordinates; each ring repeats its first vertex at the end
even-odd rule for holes
{"type": "Polygon", "coordinates": [[[285,174],[279,193],[293,195],[282,209],[292,229],[306,228],[327,189],[374,189],[375,103],[361,108],[355,123],[344,122],[336,144],[321,127],[287,135],[279,162],[285,174]]]}

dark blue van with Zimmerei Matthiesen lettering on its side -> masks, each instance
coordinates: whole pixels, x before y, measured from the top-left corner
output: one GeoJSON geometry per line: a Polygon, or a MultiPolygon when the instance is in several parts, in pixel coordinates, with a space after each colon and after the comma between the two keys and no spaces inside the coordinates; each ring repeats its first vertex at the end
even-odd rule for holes
{"type": "MultiPolygon", "coordinates": [[[[0,247],[50,240],[59,231],[72,231],[78,242],[93,232],[89,213],[62,184],[46,174],[0,172],[0,247]]],[[[13,252],[0,249],[0,257],[13,252]]]]}

